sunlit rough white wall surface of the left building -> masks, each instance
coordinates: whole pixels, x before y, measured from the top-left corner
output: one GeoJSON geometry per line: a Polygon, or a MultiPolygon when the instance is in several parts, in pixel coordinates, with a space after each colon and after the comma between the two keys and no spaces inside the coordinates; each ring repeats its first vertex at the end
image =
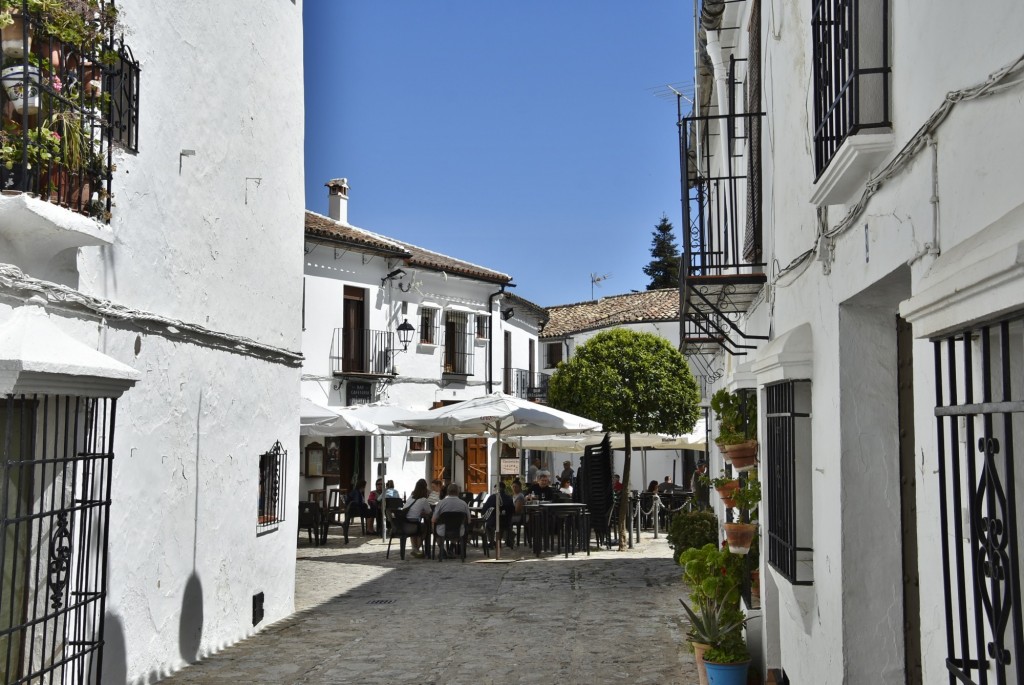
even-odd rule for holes
{"type": "MultiPolygon", "coordinates": [[[[301,3],[118,4],[141,66],[139,152],[115,156],[115,243],[80,251],[80,289],[298,352],[301,3]]],[[[299,369],[67,325],[143,374],[118,406],[104,682],[152,681],[293,610],[299,369]],[[287,521],[257,537],[259,455],[276,440],[287,521]]]]}

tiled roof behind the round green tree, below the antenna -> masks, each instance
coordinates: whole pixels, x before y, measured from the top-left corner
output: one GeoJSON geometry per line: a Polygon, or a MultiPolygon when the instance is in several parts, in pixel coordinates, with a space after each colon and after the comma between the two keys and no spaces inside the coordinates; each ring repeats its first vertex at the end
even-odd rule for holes
{"type": "Polygon", "coordinates": [[[548,307],[542,338],[557,338],[624,324],[679,319],[679,290],[648,290],[548,307]]]}

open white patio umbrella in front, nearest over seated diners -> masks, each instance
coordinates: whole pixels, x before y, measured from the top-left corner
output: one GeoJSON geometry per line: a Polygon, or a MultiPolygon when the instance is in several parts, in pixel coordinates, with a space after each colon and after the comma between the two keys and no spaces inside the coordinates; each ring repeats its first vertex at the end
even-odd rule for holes
{"type": "MultiPolygon", "coordinates": [[[[438,433],[481,435],[501,442],[509,435],[545,435],[599,431],[601,424],[544,404],[496,392],[458,404],[430,410],[429,418],[397,421],[399,426],[438,433]]],[[[499,512],[501,496],[499,495],[499,512]]],[[[495,514],[495,558],[501,559],[501,521],[495,514]]]]}

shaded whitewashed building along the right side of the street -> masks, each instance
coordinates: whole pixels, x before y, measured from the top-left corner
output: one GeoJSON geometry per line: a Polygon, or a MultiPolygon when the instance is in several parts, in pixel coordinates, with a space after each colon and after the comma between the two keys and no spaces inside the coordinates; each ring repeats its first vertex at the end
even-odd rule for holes
{"type": "Polygon", "coordinates": [[[756,658],[1024,682],[1024,6],[705,0],[697,24],[682,346],[706,393],[759,399],[756,658]]]}

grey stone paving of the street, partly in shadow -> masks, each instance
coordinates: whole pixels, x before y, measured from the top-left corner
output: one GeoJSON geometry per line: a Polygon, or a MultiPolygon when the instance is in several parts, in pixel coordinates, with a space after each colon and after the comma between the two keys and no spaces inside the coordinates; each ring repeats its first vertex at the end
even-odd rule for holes
{"type": "Polygon", "coordinates": [[[568,559],[506,549],[502,563],[474,547],[465,562],[402,561],[397,541],[386,560],[386,549],[302,536],[296,613],[161,682],[697,682],[664,536],[568,559]]]}

